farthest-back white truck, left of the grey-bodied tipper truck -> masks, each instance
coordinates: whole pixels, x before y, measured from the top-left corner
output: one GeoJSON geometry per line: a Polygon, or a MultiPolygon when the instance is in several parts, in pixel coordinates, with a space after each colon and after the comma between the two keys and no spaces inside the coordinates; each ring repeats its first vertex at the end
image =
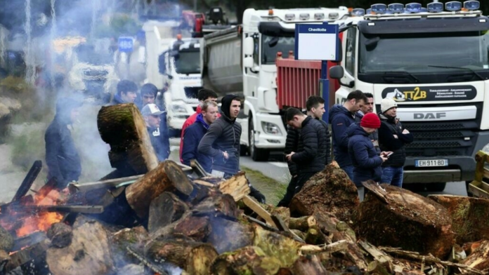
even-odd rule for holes
{"type": "Polygon", "coordinates": [[[195,113],[202,88],[200,39],[182,38],[179,22],[147,22],[145,82],[162,91],[168,125],[178,135],[185,119],[195,113]]]}

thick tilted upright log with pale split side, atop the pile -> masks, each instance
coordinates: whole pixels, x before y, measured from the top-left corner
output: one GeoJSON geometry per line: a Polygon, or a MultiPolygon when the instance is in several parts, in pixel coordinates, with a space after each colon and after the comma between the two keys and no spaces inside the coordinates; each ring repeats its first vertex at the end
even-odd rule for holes
{"type": "Polygon", "coordinates": [[[156,168],[158,159],[136,105],[102,107],[97,123],[100,137],[110,145],[109,159],[113,168],[129,166],[138,174],[156,168]]]}

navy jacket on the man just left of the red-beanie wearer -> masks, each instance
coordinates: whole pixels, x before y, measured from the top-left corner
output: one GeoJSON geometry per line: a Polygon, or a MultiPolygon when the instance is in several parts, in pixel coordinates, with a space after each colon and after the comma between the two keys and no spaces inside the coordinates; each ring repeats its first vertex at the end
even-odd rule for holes
{"type": "Polygon", "coordinates": [[[337,161],[341,168],[351,166],[346,130],[351,124],[355,123],[355,115],[343,105],[337,104],[330,109],[329,118],[332,129],[334,160],[337,161]]]}

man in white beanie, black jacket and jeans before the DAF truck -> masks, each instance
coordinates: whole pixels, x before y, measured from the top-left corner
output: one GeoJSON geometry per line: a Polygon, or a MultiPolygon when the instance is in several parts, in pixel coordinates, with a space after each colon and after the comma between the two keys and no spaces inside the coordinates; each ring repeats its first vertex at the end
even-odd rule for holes
{"type": "Polygon", "coordinates": [[[403,127],[397,116],[397,102],[384,98],[380,102],[379,147],[381,151],[393,152],[389,159],[382,163],[382,183],[403,187],[404,163],[406,161],[405,145],[414,140],[412,133],[403,127]]]}

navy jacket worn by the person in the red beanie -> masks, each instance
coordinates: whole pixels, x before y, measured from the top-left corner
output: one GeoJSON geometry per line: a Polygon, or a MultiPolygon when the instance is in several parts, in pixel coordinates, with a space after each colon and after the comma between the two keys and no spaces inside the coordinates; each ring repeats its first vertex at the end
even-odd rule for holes
{"type": "Polygon", "coordinates": [[[353,163],[353,180],[356,186],[361,187],[362,182],[374,180],[379,182],[382,178],[382,159],[377,154],[374,144],[367,132],[357,123],[348,127],[348,153],[353,163]]]}

